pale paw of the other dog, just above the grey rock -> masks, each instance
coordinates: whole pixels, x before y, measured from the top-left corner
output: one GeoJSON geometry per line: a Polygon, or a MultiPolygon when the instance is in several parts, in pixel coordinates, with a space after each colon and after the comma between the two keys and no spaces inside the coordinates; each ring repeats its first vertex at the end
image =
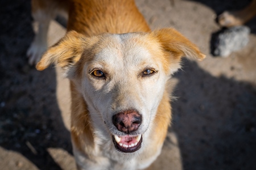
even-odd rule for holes
{"type": "Polygon", "coordinates": [[[233,27],[242,25],[242,20],[237,16],[236,12],[225,11],[218,16],[218,23],[222,27],[233,27]]]}

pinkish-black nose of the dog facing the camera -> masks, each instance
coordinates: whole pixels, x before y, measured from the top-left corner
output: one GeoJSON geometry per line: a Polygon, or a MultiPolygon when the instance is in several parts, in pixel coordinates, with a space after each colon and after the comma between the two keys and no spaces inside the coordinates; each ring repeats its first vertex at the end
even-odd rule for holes
{"type": "Polygon", "coordinates": [[[129,134],[139,128],[142,116],[136,111],[125,111],[115,114],[112,117],[112,121],[119,131],[129,134]]]}

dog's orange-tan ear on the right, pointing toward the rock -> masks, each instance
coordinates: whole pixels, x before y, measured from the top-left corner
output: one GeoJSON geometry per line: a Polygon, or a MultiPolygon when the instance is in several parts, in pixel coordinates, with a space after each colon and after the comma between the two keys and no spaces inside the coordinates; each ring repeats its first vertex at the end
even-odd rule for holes
{"type": "Polygon", "coordinates": [[[152,32],[162,48],[167,53],[167,61],[172,65],[171,74],[180,67],[182,57],[195,58],[203,60],[205,54],[201,53],[199,48],[174,28],[163,28],[152,32]]]}

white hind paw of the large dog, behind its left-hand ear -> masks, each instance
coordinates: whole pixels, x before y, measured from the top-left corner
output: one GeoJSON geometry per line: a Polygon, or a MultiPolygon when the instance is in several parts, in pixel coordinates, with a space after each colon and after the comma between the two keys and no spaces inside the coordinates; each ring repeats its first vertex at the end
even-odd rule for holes
{"type": "Polygon", "coordinates": [[[47,49],[47,44],[40,44],[33,41],[27,50],[28,63],[30,65],[36,65],[40,61],[43,53],[47,49]]]}

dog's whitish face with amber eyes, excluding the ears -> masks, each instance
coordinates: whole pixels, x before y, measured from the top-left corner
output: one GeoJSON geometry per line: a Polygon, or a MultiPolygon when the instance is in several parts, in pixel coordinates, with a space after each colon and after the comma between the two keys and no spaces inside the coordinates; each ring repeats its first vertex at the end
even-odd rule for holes
{"type": "Polygon", "coordinates": [[[92,56],[86,52],[81,59],[80,91],[94,126],[108,129],[122,152],[141,147],[168,79],[160,44],[148,39],[141,33],[102,35],[88,51],[92,56]]]}

